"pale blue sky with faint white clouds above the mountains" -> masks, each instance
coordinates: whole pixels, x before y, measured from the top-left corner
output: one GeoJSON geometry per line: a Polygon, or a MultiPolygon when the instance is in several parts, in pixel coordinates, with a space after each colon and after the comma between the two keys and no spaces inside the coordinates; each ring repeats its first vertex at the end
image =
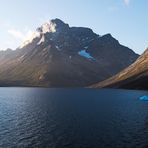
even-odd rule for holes
{"type": "Polygon", "coordinates": [[[16,49],[44,22],[111,33],[141,54],[148,47],[148,0],[0,0],[0,50],[16,49]]]}

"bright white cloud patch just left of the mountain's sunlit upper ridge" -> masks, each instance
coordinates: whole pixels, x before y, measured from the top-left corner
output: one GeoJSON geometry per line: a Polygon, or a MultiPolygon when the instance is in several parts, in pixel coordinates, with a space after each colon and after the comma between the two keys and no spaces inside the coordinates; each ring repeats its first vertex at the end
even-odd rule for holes
{"type": "Polygon", "coordinates": [[[16,29],[10,29],[8,30],[8,33],[18,40],[25,41],[32,36],[33,31],[26,30],[25,32],[22,32],[16,29]]]}

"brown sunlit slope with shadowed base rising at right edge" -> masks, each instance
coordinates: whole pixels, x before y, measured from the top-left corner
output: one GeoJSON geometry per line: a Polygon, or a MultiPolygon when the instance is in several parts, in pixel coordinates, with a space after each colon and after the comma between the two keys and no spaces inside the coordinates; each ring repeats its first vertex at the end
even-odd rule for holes
{"type": "Polygon", "coordinates": [[[148,49],[128,68],[92,87],[148,90],[148,49]]]}

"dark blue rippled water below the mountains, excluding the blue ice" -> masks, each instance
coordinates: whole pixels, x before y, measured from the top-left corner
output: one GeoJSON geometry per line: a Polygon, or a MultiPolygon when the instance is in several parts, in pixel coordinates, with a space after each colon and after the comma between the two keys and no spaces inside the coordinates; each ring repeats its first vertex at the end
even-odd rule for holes
{"type": "Polygon", "coordinates": [[[0,148],[147,148],[147,91],[0,88],[0,148]]]}

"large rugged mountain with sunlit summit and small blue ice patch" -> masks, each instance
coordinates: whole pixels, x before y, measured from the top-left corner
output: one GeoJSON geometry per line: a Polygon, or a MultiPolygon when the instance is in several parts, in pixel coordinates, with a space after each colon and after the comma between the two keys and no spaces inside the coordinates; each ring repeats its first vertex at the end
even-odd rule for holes
{"type": "Polygon", "coordinates": [[[53,19],[16,50],[0,52],[0,86],[79,87],[105,80],[138,58],[111,34],[53,19]]]}

